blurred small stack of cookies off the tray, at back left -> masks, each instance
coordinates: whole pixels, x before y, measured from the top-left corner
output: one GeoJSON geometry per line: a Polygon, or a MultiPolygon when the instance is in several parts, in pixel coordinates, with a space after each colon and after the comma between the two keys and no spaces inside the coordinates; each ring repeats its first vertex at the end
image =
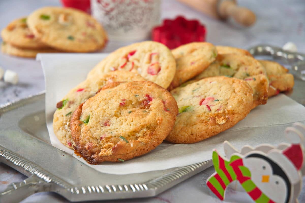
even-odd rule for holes
{"type": "Polygon", "coordinates": [[[77,9],[45,7],[12,21],[1,32],[1,51],[33,58],[45,52],[91,52],[102,49],[107,35],[90,15],[77,9]]]}

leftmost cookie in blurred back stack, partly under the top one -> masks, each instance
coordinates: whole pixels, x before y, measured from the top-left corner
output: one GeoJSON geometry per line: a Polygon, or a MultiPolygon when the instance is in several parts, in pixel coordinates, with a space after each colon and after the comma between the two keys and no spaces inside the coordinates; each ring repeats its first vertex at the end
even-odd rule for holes
{"type": "Polygon", "coordinates": [[[2,39],[12,44],[14,47],[23,49],[41,49],[47,48],[45,44],[42,44],[37,37],[27,27],[27,18],[19,18],[6,26],[1,31],[2,39]]]}

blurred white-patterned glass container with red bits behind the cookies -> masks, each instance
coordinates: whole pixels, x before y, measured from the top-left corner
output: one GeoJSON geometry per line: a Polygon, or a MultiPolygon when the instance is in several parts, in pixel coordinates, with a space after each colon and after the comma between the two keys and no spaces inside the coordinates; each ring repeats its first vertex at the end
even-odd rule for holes
{"type": "Polygon", "coordinates": [[[161,0],[91,0],[91,13],[110,40],[145,40],[160,23],[160,6],[161,0]]]}

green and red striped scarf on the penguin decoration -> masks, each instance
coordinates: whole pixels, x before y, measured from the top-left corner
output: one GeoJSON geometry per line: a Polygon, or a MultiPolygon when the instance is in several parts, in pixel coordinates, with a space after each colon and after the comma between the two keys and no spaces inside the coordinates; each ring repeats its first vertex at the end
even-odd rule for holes
{"type": "Polygon", "coordinates": [[[267,197],[251,180],[251,172],[243,165],[242,158],[233,155],[230,161],[213,151],[215,173],[208,178],[206,185],[221,200],[224,200],[226,187],[238,180],[249,196],[257,203],[275,203],[267,197]]]}

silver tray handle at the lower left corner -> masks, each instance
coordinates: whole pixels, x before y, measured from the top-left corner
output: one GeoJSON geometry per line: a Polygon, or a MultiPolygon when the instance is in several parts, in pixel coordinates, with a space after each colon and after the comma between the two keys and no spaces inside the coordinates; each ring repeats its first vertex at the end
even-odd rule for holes
{"type": "Polygon", "coordinates": [[[50,186],[50,183],[33,174],[20,183],[10,184],[0,193],[0,202],[17,203],[36,192],[50,191],[50,186]]]}

